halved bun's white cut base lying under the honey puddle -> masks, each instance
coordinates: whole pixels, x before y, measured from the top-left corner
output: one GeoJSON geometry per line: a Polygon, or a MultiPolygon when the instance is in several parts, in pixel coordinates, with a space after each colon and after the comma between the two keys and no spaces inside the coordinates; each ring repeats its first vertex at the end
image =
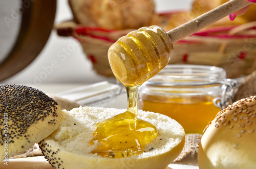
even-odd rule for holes
{"type": "Polygon", "coordinates": [[[114,108],[79,107],[63,110],[65,120],[47,138],[39,142],[42,153],[56,168],[165,168],[181,153],[185,132],[174,119],[165,115],[139,110],[138,118],[152,123],[158,136],[148,143],[145,152],[124,158],[101,157],[90,152],[95,124],[125,110],[114,108]],[[152,149],[153,148],[153,149],[152,149]]]}

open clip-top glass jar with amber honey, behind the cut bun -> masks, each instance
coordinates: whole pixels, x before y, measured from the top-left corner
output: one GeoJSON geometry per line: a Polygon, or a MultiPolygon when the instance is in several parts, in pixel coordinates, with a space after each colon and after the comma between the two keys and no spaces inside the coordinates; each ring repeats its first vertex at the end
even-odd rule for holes
{"type": "Polygon", "coordinates": [[[165,114],[186,133],[202,133],[223,108],[232,104],[235,80],[221,67],[167,65],[139,91],[139,109],[165,114]]]}

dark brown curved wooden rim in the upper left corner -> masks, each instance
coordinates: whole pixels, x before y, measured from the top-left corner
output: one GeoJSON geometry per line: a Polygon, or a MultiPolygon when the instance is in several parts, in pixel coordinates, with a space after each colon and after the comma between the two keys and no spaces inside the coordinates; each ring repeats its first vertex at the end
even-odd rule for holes
{"type": "Polygon", "coordinates": [[[31,3],[22,12],[16,42],[0,65],[0,81],[28,66],[44,48],[53,28],[56,0],[20,1],[23,6],[31,3]]]}

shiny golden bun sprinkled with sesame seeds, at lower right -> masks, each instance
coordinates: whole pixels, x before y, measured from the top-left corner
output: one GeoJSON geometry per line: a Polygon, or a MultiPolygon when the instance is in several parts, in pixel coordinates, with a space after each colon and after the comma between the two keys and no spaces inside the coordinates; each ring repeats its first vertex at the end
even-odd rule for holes
{"type": "Polygon", "coordinates": [[[200,169],[256,168],[256,96],[220,111],[206,127],[198,150],[200,169]]]}

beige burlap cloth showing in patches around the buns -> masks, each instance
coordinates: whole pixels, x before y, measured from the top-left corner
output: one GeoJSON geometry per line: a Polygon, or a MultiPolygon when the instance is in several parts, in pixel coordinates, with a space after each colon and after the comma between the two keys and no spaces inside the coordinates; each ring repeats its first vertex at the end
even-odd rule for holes
{"type": "MultiPolygon", "coordinates": [[[[59,98],[56,95],[48,94],[53,98],[60,106],[61,109],[71,110],[72,108],[79,107],[76,102],[72,102],[63,98],[59,98]]],[[[256,71],[251,75],[243,78],[239,87],[234,91],[234,101],[238,101],[243,98],[247,98],[251,95],[256,95],[256,71]]],[[[186,134],[185,145],[181,154],[175,159],[174,162],[182,161],[185,158],[197,158],[198,144],[200,142],[201,134],[186,134]]],[[[13,158],[23,158],[32,156],[41,156],[42,153],[38,147],[38,144],[34,144],[24,154],[14,156],[13,158]]]]}

